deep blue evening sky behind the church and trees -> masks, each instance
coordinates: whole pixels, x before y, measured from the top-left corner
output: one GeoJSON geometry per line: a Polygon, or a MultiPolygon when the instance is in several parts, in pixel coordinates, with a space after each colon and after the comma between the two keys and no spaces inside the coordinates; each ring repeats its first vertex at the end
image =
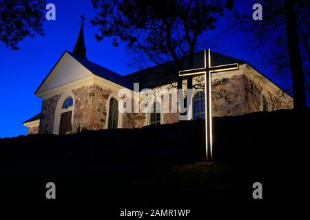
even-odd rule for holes
{"type": "MultiPolygon", "coordinates": [[[[125,45],[114,47],[110,39],[97,42],[94,38],[98,28],[90,24],[90,19],[96,13],[90,0],[58,0],[48,1],[48,3],[56,5],[56,21],[45,21],[45,36],[25,39],[19,44],[20,49],[17,51],[11,50],[0,42],[0,137],[12,137],[27,133],[27,128],[23,126],[22,122],[41,111],[41,99],[34,95],[34,91],[56,64],[64,50],[73,50],[79,34],[81,23],[79,16],[81,14],[85,14],[87,19],[84,29],[87,58],[122,75],[136,70],[127,66],[130,57],[125,54],[125,45]]],[[[227,28],[225,20],[220,25],[216,32],[227,28]]],[[[247,44],[242,34],[226,32],[223,34],[220,48],[216,48],[214,51],[222,50],[229,56],[248,61],[278,85],[287,87],[288,83],[274,77],[271,74],[271,69],[263,65],[261,54],[250,54],[245,49],[247,44]]]]}

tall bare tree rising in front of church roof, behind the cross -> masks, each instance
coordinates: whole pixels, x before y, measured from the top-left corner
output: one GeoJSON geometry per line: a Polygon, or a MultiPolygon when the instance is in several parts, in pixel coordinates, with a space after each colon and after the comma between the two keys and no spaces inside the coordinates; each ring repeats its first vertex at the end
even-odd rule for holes
{"type": "MultiPolygon", "coordinates": [[[[207,30],[216,27],[225,8],[232,8],[232,1],[207,0],[92,0],[99,9],[92,20],[99,26],[96,39],[112,37],[114,45],[125,41],[130,53],[140,63],[147,65],[174,63],[178,72],[187,57],[187,67],[192,68],[197,45],[203,42],[207,30]]],[[[207,42],[204,41],[204,45],[207,42]]],[[[192,77],[187,78],[187,87],[193,87],[192,77]]],[[[177,87],[182,88],[182,78],[177,87]]]]}

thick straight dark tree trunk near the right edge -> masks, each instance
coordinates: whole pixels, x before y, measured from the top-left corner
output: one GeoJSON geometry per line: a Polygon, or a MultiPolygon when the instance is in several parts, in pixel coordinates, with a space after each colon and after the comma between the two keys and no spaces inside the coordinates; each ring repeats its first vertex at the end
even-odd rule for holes
{"type": "Polygon", "coordinates": [[[287,24],[289,65],[291,67],[291,78],[293,83],[293,106],[294,109],[302,110],[306,109],[307,99],[294,3],[295,1],[293,0],[285,0],[285,21],[287,24]]]}

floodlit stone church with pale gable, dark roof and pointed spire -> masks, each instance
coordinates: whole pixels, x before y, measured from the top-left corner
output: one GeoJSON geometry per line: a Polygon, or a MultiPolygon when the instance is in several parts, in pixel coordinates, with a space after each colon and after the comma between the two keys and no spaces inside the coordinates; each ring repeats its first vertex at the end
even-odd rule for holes
{"type": "MultiPolygon", "coordinates": [[[[203,67],[204,59],[204,52],[197,52],[194,56],[194,68],[203,67]]],[[[211,63],[239,65],[238,70],[218,72],[212,76],[213,116],[242,115],[293,107],[293,98],[289,94],[246,61],[211,52],[211,63]]],[[[194,84],[199,85],[203,77],[194,77],[194,84]]],[[[139,89],[169,89],[176,86],[177,78],[178,72],[173,62],[122,76],[88,61],[82,21],[73,52],[63,52],[34,93],[43,100],[41,112],[23,122],[23,125],[28,127],[28,134],[64,135],[83,129],[141,128],[178,122],[180,113],[118,111],[120,89],[127,88],[134,93],[134,83],[139,83],[139,89]]],[[[185,78],[183,82],[186,83],[185,78]]],[[[185,85],[183,88],[186,92],[185,85]]],[[[190,98],[192,103],[188,107],[188,120],[205,118],[203,87],[194,88],[190,98]]],[[[162,108],[161,105],[163,103],[156,102],[156,108],[162,108]]]]}

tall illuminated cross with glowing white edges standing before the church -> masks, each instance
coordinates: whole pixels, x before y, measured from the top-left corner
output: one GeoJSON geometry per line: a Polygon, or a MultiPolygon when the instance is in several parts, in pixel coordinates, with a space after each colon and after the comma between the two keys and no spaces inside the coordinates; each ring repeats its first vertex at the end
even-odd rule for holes
{"type": "Polygon", "coordinates": [[[211,74],[239,69],[238,63],[211,67],[211,51],[205,50],[205,67],[187,69],[178,72],[178,76],[198,76],[205,74],[205,151],[207,160],[212,160],[212,104],[211,104],[211,74]]]}

